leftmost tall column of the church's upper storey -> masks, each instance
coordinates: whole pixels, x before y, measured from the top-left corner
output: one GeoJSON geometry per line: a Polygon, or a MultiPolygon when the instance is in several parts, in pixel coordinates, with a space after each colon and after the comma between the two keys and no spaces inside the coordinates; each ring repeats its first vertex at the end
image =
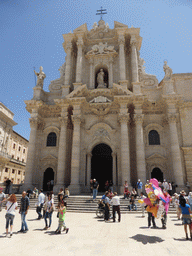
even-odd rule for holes
{"type": "Polygon", "coordinates": [[[71,50],[72,50],[72,43],[67,43],[67,56],[66,56],[66,67],[65,67],[65,82],[64,86],[62,86],[62,97],[66,94],[69,94],[70,88],[70,75],[71,75],[71,50]]]}

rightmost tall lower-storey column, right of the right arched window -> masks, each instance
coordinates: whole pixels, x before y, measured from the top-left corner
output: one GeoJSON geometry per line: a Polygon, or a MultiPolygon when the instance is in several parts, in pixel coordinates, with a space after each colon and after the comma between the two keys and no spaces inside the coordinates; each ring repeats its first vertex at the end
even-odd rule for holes
{"type": "Polygon", "coordinates": [[[171,139],[171,155],[173,163],[173,172],[175,176],[175,182],[178,186],[183,186],[183,171],[181,164],[181,154],[177,133],[177,117],[175,114],[168,114],[170,139],[171,139]]]}

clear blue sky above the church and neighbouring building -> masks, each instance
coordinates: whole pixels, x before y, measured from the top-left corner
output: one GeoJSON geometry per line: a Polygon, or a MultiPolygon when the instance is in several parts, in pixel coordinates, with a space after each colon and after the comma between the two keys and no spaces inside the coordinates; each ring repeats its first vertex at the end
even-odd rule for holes
{"type": "Polygon", "coordinates": [[[173,73],[192,72],[192,0],[0,0],[0,101],[15,114],[14,130],[23,137],[30,134],[24,100],[33,97],[33,67],[43,66],[48,91],[65,62],[62,34],[84,23],[90,30],[101,6],[110,28],[119,21],[141,29],[140,56],[159,82],[164,60],[173,73]]]}

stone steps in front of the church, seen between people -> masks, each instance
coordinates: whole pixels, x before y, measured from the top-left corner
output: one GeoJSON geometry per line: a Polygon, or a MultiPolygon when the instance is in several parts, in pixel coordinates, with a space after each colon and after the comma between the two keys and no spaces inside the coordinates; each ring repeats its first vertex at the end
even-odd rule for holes
{"type": "MultiPolygon", "coordinates": [[[[17,201],[20,205],[21,195],[17,194],[17,201]]],[[[78,212],[78,213],[96,213],[98,208],[98,201],[101,199],[101,195],[97,196],[95,201],[92,200],[91,196],[88,195],[79,195],[79,196],[70,196],[66,199],[67,201],[67,211],[69,212],[78,212]]],[[[30,198],[30,209],[36,209],[37,198],[30,198]]],[[[57,195],[55,195],[54,204],[57,206],[58,199],[57,195]]],[[[138,199],[136,200],[137,211],[129,211],[128,205],[129,200],[123,199],[123,196],[120,196],[120,204],[121,204],[121,213],[141,213],[141,205],[138,203],[138,199]]],[[[176,213],[175,208],[171,205],[169,208],[169,212],[176,213]]]]}

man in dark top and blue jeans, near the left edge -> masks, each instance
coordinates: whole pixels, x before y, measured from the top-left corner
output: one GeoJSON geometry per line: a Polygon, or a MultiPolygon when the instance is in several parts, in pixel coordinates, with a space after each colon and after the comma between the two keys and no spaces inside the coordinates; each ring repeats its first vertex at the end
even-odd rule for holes
{"type": "Polygon", "coordinates": [[[27,226],[27,222],[25,220],[25,217],[28,213],[28,209],[29,209],[29,198],[27,197],[26,191],[23,191],[20,209],[19,209],[19,213],[21,214],[21,230],[19,232],[22,232],[22,233],[25,233],[29,230],[27,226]]]}

